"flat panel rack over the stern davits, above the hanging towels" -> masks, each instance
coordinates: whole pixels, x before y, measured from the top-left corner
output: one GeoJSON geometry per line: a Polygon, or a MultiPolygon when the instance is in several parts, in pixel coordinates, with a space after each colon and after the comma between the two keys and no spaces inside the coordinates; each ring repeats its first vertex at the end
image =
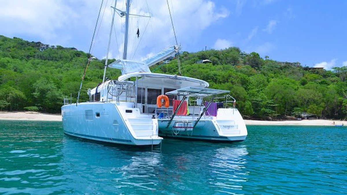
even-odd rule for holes
{"type": "Polygon", "coordinates": [[[222,93],[229,93],[227,90],[216,90],[209,88],[201,87],[185,87],[174,91],[169,91],[165,93],[166,95],[184,95],[184,96],[197,96],[197,97],[206,97],[211,95],[218,95],[222,93]]]}

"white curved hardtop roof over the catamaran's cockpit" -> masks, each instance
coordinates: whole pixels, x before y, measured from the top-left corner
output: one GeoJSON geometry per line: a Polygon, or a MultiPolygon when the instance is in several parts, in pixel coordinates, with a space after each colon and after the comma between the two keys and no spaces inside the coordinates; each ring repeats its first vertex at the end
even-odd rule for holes
{"type": "Polygon", "coordinates": [[[139,84],[141,83],[156,83],[163,86],[178,86],[180,88],[193,86],[193,87],[208,87],[210,84],[204,80],[178,76],[178,75],[168,75],[160,73],[130,73],[126,75],[121,75],[118,77],[119,81],[124,81],[132,77],[141,77],[139,79],[139,84]]]}

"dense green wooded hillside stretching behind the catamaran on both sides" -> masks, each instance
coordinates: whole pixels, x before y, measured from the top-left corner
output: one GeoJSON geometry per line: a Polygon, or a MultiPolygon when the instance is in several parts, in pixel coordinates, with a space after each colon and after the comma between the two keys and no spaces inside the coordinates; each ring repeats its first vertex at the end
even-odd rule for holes
{"type": "MultiPolygon", "coordinates": [[[[0,36],[0,110],[58,113],[62,99],[76,99],[88,56],[62,46],[40,51],[35,42],[0,36]]],[[[239,48],[180,55],[182,74],[206,80],[210,87],[230,90],[244,117],[282,118],[307,112],[321,118],[346,119],[347,67],[331,71],[277,62],[239,48]],[[196,63],[208,59],[211,63],[196,63]]],[[[86,91],[102,80],[104,60],[92,60],[83,83],[86,91]]],[[[177,59],[156,65],[153,72],[178,74],[177,59]]],[[[120,71],[108,71],[117,78],[120,71]]]]}

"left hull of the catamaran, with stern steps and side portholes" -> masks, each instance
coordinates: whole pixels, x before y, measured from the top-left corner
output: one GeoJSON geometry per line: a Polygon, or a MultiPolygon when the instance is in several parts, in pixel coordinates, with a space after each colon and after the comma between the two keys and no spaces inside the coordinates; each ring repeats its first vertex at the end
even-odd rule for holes
{"type": "Polygon", "coordinates": [[[158,121],[141,115],[131,103],[86,102],[61,108],[64,133],[127,145],[157,145],[158,121]]]}

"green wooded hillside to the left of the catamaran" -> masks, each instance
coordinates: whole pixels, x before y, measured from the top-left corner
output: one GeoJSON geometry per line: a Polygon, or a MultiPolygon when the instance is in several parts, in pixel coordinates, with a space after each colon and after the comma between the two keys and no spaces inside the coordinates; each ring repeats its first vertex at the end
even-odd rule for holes
{"type": "MultiPolygon", "coordinates": [[[[37,107],[59,113],[65,96],[77,97],[86,62],[87,54],[82,51],[59,45],[40,51],[35,42],[0,36],[0,110],[37,107]]],[[[87,89],[100,83],[103,67],[104,61],[91,61],[80,101],[88,100],[87,89]]],[[[111,73],[114,78],[120,75],[119,71],[111,73]]]]}

